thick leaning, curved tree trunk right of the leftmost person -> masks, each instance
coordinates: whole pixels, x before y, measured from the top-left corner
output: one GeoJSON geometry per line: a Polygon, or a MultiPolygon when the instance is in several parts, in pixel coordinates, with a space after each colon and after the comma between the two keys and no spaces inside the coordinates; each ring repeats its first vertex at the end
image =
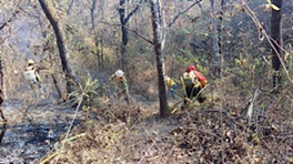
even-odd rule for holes
{"type": "Polygon", "coordinates": [[[69,53],[65,47],[64,42],[64,31],[62,29],[62,24],[60,23],[60,20],[58,19],[57,14],[54,13],[54,8],[50,3],[46,3],[43,0],[39,0],[42,10],[50,21],[51,25],[53,27],[57,44],[59,49],[59,55],[62,63],[62,70],[65,73],[67,76],[67,93],[72,92],[72,84],[70,83],[70,79],[73,79],[73,74],[71,69],[69,68],[68,60],[69,60],[69,53]]]}

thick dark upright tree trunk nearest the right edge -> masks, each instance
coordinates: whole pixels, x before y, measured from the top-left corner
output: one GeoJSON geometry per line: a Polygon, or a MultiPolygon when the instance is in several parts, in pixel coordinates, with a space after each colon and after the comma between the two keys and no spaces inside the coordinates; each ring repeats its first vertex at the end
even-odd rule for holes
{"type": "Polygon", "coordinates": [[[273,74],[273,86],[275,88],[277,84],[281,84],[281,57],[282,57],[282,34],[281,34],[281,20],[282,20],[282,0],[273,0],[273,4],[275,4],[280,10],[272,9],[271,17],[271,32],[272,32],[272,66],[274,70],[273,74]]]}

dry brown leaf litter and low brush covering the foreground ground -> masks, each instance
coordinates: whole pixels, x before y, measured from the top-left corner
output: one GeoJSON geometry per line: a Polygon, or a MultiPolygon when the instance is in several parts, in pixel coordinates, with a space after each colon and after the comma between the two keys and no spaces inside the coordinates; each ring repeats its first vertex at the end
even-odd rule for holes
{"type": "Polygon", "coordinates": [[[241,110],[211,110],[208,103],[168,119],[158,117],[154,102],[92,107],[71,133],[85,136],[68,142],[58,163],[292,162],[292,123],[271,120],[262,125],[265,114],[249,122],[241,110]]]}

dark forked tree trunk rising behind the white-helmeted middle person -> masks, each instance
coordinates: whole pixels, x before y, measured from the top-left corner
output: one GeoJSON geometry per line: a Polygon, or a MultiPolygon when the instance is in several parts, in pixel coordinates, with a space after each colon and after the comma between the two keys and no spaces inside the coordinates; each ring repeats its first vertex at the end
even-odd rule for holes
{"type": "Polygon", "coordinates": [[[120,64],[122,69],[125,69],[127,65],[127,45],[128,45],[128,41],[129,41],[129,37],[128,37],[128,22],[130,20],[130,18],[139,10],[140,8],[140,3],[142,2],[142,0],[140,0],[139,4],[137,4],[137,7],[129,12],[129,14],[127,16],[127,0],[120,0],[119,2],[119,17],[120,17],[120,23],[121,23],[121,33],[122,33],[122,44],[121,44],[121,49],[120,49],[120,64]]]}

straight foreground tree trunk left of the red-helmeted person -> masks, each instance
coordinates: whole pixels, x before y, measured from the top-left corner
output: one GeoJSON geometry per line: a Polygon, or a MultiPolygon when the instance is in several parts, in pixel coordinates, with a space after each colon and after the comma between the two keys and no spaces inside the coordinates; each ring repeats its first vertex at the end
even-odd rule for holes
{"type": "Polygon", "coordinates": [[[164,82],[164,55],[163,55],[163,32],[162,24],[162,10],[160,8],[159,0],[151,0],[151,11],[152,11],[152,27],[153,27],[153,48],[156,58],[156,71],[158,71],[158,82],[159,82],[159,99],[160,99],[160,116],[165,117],[170,114],[168,107],[166,89],[164,82]]]}

